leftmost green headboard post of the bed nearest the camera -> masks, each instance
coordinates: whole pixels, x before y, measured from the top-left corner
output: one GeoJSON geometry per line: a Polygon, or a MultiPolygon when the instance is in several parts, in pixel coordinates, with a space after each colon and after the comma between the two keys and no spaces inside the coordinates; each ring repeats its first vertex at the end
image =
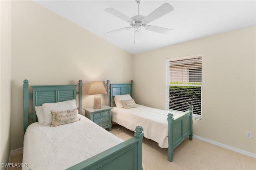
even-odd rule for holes
{"type": "Polygon", "coordinates": [[[28,127],[28,80],[23,81],[23,127],[24,134],[28,127]]]}

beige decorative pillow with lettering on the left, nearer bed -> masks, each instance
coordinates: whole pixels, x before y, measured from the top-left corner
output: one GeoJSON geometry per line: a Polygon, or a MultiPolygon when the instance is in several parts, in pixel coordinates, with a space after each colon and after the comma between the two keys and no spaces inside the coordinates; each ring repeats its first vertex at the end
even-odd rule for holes
{"type": "Polygon", "coordinates": [[[78,119],[78,111],[77,108],[69,109],[66,111],[51,111],[52,113],[52,125],[51,127],[56,127],[59,125],[64,125],[67,123],[72,123],[76,121],[80,121],[78,119]]]}

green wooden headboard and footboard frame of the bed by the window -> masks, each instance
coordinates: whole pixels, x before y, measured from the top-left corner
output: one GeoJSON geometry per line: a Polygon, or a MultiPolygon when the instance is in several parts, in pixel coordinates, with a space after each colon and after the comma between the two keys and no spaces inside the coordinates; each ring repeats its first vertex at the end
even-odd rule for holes
{"type": "MultiPolygon", "coordinates": [[[[130,94],[133,98],[133,80],[130,83],[110,84],[108,80],[106,83],[107,89],[107,105],[115,107],[114,102],[115,95],[130,94]]],[[[193,106],[189,105],[188,111],[182,112],[182,116],[174,119],[172,113],[168,114],[168,160],[173,160],[174,148],[176,148],[183,140],[189,137],[192,140],[193,137],[193,120],[192,120],[193,106]]]]}

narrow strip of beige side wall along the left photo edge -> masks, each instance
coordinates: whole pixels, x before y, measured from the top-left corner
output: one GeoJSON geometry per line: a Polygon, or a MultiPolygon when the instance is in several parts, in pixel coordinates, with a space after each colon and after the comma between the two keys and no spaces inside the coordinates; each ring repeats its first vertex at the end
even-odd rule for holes
{"type": "Polygon", "coordinates": [[[0,163],[8,163],[11,122],[11,1],[0,1],[0,18],[0,163]]]}

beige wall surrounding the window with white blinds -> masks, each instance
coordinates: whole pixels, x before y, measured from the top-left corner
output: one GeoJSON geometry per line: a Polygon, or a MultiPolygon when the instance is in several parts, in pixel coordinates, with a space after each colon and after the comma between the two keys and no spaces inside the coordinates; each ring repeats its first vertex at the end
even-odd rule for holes
{"type": "Polygon", "coordinates": [[[194,119],[194,134],[256,154],[255,29],[134,55],[135,101],[165,109],[166,58],[202,53],[202,120],[194,119]],[[246,131],[252,132],[252,139],[246,138],[246,131]]]}

